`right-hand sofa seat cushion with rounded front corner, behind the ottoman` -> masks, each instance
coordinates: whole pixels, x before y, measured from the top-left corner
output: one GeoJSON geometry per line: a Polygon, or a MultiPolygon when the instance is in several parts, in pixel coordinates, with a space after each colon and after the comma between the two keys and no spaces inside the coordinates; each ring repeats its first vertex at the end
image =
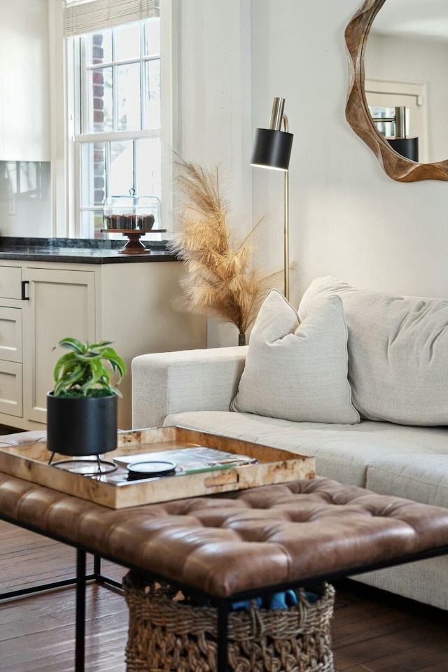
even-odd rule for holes
{"type": "Polygon", "coordinates": [[[381,495],[413,499],[448,508],[447,454],[400,454],[380,457],[367,468],[367,488],[381,495]]]}

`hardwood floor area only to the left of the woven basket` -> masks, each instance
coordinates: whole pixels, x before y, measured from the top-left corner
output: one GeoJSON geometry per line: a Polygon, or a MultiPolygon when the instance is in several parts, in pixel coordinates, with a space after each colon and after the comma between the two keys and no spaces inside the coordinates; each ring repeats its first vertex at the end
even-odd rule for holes
{"type": "MultiPolygon", "coordinates": [[[[71,547],[0,521],[0,592],[74,576],[71,547]]],[[[91,563],[88,570],[92,570],[91,563]]],[[[121,580],[123,567],[103,562],[121,580]]],[[[127,606],[121,594],[87,587],[86,672],[125,672],[127,606]]],[[[1,672],[73,672],[74,587],[0,603],[1,672]]]]}

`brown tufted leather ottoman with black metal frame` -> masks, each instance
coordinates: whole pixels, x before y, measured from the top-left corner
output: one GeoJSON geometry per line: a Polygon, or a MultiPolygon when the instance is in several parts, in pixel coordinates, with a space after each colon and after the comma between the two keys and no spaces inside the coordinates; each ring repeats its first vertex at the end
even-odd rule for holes
{"type": "Polygon", "coordinates": [[[448,553],[448,510],[325,478],[111,510],[0,474],[0,517],[215,598],[220,672],[232,598],[448,553]]]}

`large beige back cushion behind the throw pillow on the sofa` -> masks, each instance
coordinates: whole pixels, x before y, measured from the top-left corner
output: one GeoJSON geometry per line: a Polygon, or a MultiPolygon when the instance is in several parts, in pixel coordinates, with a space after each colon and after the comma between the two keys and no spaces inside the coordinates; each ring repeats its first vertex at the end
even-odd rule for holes
{"type": "Polygon", "coordinates": [[[358,290],[317,278],[300,320],[337,295],[349,330],[349,382],[361,417],[407,425],[448,424],[448,300],[358,290]]]}

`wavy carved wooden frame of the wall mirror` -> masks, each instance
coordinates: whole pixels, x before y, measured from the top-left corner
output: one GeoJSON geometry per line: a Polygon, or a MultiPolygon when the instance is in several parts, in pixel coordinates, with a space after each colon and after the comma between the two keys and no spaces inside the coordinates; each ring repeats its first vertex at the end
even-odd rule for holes
{"type": "Polygon", "coordinates": [[[365,45],[372,22],[386,0],[366,0],[345,29],[349,57],[349,92],[345,116],[353,131],[367,144],[385,172],[399,182],[448,181],[448,159],[438,163],[416,163],[395,152],[370,116],[364,92],[365,45]]]}

